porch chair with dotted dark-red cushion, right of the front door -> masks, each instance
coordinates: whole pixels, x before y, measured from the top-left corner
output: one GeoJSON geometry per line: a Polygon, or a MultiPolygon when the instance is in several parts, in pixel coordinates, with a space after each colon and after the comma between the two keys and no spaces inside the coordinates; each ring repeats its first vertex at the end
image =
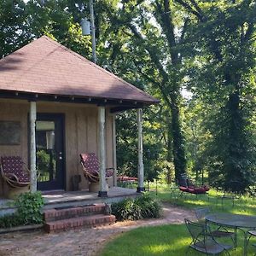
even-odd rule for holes
{"type": "MultiPolygon", "coordinates": [[[[100,181],[99,170],[100,163],[94,153],[80,154],[80,163],[83,167],[84,177],[90,183],[98,183],[100,181]]],[[[106,168],[106,178],[113,176],[113,168],[106,168]]]]}

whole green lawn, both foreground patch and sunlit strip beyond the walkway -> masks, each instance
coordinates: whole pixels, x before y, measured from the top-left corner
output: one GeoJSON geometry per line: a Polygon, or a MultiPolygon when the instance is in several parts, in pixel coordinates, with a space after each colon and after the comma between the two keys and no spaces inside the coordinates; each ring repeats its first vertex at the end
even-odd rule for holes
{"type": "MultiPolygon", "coordinates": [[[[170,189],[161,187],[157,195],[154,196],[161,201],[169,201],[184,208],[195,208],[201,206],[212,206],[213,212],[233,212],[241,214],[256,215],[255,200],[247,196],[242,196],[241,201],[235,202],[232,207],[232,201],[224,201],[222,207],[218,200],[217,192],[211,190],[208,196],[189,195],[186,199],[171,200],[170,189]]],[[[189,242],[191,241],[189,233],[184,224],[168,224],[154,227],[138,228],[125,232],[121,236],[109,241],[102,250],[102,256],[110,255],[200,255],[200,253],[189,250],[186,254],[189,242]]],[[[230,242],[230,240],[228,241],[230,242]]],[[[238,247],[230,251],[231,255],[242,255],[243,235],[238,231],[238,247]]],[[[255,252],[255,251],[254,251],[255,252]]],[[[247,255],[253,255],[253,247],[248,247],[247,255]]]]}

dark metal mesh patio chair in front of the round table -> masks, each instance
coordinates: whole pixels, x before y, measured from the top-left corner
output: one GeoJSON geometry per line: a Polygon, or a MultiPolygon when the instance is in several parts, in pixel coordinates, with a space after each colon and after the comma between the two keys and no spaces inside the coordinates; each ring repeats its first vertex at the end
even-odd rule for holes
{"type": "Polygon", "coordinates": [[[193,248],[197,252],[206,254],[215,255],[226,252],[230,255],[228,250],[230,250],[232,246],[216,241],[211,235],[210,227],[207,224],[195,223],[187,218],[185,218],[185,224],[192,237],[189,248],[193,248]]]}

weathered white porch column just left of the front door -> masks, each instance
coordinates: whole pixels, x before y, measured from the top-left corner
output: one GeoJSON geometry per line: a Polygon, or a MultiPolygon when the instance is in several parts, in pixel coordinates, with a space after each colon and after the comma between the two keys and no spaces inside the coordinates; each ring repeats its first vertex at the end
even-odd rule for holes
{"type": "Polygon", "coordinates": [[[37,103],[30,102],[30,191],[37,191],[37,166],[36,166],[36,119],[37,103]]]}

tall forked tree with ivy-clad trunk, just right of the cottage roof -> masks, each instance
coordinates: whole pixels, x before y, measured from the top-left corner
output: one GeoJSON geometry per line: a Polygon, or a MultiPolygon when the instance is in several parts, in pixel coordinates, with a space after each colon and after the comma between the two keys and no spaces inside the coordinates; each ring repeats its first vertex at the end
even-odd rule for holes
{"type": "MultiPolygon", "coordinates": [[[[154,90],[160,92],[170,114],[167,121],[169,125],[167,143],[168,159],[175,166],[175,177],[186,172],[186,158],[184,151],[184,138],[180,120],[180,90],[183,79],[181,71],[181,53],[177,50],[183,42],[186,21],[180,22],[182,35],[175,34],[175,13],[169,1],[123,1],[121,8],[105,3],[102,8],[108,12],[112,26],[119,26],[122,34],[129,36],[126,49],[132,52],[132,67],[134,73],[139,73],[154,90]],[[172,12],[173,11],[173,12],[172,12]],[[154,19],[154,21],[152,21],[154,19]],[[172,148],[171,148],[172,146],[172,148]],[[170,152],[172,151],[172,154],[170,152]]],[[[122,54],[123,44],[115,44],[113,48],[122,54]]],[[[115,54],[117,55],[117,54],[115,54]]]]}

